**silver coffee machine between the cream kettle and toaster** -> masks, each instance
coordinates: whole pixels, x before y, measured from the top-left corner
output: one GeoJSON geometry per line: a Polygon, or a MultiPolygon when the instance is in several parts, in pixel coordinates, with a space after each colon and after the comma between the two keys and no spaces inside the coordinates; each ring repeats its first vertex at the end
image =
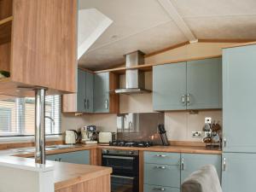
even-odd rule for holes
{"type": "Polygon", "coordinates": [[[97,127],[96,125],[88,125],[81,128],[82,143],[96,144],[97,143],[97,127]]]}

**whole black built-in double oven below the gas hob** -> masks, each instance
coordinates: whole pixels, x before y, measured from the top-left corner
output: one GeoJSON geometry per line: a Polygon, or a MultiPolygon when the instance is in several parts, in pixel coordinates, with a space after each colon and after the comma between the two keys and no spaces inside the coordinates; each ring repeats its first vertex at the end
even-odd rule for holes
{"type": "Polygon", "coordinates": [[[139,154],[136,150],[102,150],[102,166],[113,168],[112,192],[138,192],[139,154]]]}

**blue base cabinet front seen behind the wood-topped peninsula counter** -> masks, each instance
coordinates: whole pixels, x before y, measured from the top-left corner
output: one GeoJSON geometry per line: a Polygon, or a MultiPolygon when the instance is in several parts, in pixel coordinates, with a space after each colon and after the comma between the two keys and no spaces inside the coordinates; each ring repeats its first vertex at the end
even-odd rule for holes
{"type": "Polygon", "coordinates": [[[46,160],[61,161],[74,164],[90,164],[90,150],[74,151],[63,154],[46,155],[46,160]]]}

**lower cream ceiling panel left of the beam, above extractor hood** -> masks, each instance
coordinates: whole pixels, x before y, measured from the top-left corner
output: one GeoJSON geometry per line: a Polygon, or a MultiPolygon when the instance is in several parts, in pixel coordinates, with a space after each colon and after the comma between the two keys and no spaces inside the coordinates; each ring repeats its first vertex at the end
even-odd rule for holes
{"type": "Polygon", "coordinates": [[[137,49],[148,54],[186,40],[174,22],[169,21],[151,30],[117,41],[107,47],[90,51],[79,60],[79,65],[93,70],[113,67],[125,62],[124,54],[137,49]]]}

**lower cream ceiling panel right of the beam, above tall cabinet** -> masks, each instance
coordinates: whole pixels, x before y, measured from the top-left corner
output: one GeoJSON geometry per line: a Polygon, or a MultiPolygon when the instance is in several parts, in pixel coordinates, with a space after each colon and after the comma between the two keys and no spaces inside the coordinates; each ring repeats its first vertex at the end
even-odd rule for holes
{"type": "Polygon", "coordinates": [[[255,16],[186,18],[197,38],[256,38],[255,16]]]}

